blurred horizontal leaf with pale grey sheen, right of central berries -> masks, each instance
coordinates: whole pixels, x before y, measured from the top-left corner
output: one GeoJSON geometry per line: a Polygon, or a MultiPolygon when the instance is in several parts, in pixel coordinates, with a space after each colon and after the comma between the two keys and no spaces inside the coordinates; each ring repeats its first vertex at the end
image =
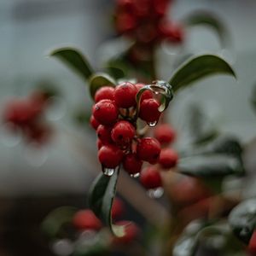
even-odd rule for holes
{"type": "Polygon", "coordinates": [[[181,173],[195,177],[224,177],[241,175],[241,161],[228,154],[201,154],[184,157],[178,162],[181,173]]]}

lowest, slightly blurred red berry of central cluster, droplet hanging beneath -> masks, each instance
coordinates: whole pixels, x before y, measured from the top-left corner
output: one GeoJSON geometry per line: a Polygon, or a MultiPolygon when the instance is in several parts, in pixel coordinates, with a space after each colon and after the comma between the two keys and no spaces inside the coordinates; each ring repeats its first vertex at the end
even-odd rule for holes
{"type": "Polygon", "coordinates": [[[162,186],[160,172],[158,172],[154,166],[143,169],[140,176],[140,182],[146,189],[157,189],[162,186]]]}

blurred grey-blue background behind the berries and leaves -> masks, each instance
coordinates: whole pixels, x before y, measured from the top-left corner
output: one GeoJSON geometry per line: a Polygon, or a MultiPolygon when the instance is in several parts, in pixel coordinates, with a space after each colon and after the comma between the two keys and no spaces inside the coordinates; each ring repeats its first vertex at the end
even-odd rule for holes
{"type": "MultiPolygon", "coordinates": [[[[248,101],[256,83],[256,2],[176,0],[169,15],[180,20],[197,9],[213,12],[224,21],[232,45],[221,49],[214,33],[198,26],[187,33],[187,48],[192,53],[223,55],[238,79],[213,77],[179,94],[172,104],[173,125],[178,127],[178,109],[184,101],[201,102],[222,131],[247,143],[255,136],[248,101]]],[[[51,255],[38,232],[40,221],[58,206],[86,206],[86,192],[101,166],[94,132],[77,125],[73,116],[78,108],[90,112],[92,102],[86,84],[48,54],[57,46],[76,46],[98,67],[102,45],[113,39],[112,10],[110,0],[0,2],[1,106],[14,96],[27,96],[42,81],[54,84],[59,92],[45,113],[55,135],[44,148],[27,147],[1,125],[0,255],[51,255]]],[[[160,58],[161,78],[168,79],[175,50],[163,47],[159,54],[165,55],[160,58]]]]}

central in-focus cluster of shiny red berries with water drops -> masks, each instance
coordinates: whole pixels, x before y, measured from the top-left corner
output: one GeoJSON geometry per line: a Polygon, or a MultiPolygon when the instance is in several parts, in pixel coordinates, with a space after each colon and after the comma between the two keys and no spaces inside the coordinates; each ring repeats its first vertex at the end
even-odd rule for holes
{"type": "Polygon", "coordinates": [[[152,90],[143,90],[137,108],[136,96],[143,86],[125,82],[97,90],[90,124],[97,133],[98,159],[105,174],[112,175],[122,164],[132,177],[141,176],[146,189],[157,189],[162,185],[159,169],[168,170],[177,164],[177,153],[165,148],[173,142],[175,133],[170,125],[158,125],[154,137],[138,134],[137,117],[156,125],[161,114],[152,90]],[[143,162],[154,166],[142,172],[143,162]]]}

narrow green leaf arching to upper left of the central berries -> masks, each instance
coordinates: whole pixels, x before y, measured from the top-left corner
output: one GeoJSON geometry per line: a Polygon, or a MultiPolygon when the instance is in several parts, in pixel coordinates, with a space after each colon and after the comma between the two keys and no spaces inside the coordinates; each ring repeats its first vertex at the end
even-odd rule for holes
{"type": "Polygon", "coordinates": [[[90,79],[90,76],[94,73],[89,62],[85,59],[84,55],[80,53],[79,49],[70,47],[54,49],[49,54],[63,61],[68,67],[71,67],[73,71],[79,73],[85,81],[90,79]]]}

